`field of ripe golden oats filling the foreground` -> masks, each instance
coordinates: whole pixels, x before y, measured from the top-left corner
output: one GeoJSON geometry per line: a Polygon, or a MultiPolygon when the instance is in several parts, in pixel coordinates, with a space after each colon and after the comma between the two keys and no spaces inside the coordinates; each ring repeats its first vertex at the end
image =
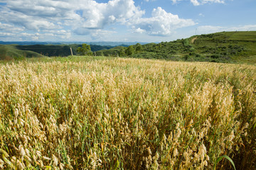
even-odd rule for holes
{"type": "Polygon", "coordinates": [[[80,58],[0,64],[0,169],[256,169],[255,65],[80,58]]]}

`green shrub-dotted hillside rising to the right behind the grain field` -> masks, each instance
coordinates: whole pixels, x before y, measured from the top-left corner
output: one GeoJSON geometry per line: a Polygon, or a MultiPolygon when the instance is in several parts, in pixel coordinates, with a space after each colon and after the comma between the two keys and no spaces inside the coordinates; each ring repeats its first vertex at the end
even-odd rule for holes
{"type": "MultiPolygon", "coordinates": [[[[256,31],[195,35],[172,42],[142,45],[139,51],[136,50],[137,45],[132,47],[132,55],[127,52],[122,55],[121,48],[119,52],[114,50],[114,53],[119,53],[119,56],[176,61],[256,63],[256,31]]],[[[102,52],[105,55],[113,54],[113,50],[102,52]]]]}

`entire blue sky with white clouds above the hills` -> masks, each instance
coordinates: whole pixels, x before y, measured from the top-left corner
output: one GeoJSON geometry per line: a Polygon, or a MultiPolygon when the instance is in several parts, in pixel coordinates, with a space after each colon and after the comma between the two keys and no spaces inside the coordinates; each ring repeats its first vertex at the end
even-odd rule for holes
{"type": "Polygon", "coordinates": [[[0,0],[0,40],[171,41],[256,30],[255,9],[255,0],[0,0]]]}

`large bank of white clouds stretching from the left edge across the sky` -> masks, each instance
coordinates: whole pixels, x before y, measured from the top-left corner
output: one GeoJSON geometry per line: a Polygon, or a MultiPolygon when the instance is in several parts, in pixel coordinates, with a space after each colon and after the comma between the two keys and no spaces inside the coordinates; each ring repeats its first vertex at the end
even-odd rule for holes
{"type": "MultiPolygon", "coordinates": [[[[207,0],[203,0],[207,1],[207,0]]],[[[33,31],[34,39],[41,35],[69,38],[70,35],[91,35],[102,38],[115,31],[108,26],[128,26],[132,33],[167,36],[177,28],[193,26],[191,19],[183,19],[154,8],[151,17],[134,5],[133,0],[112,0],[97,3],[94,0],[9,0],[0,6],[0,31],[5,34],[33,31]]],[[[30,34],[29,34],[30,35],[30,34]]]]}

